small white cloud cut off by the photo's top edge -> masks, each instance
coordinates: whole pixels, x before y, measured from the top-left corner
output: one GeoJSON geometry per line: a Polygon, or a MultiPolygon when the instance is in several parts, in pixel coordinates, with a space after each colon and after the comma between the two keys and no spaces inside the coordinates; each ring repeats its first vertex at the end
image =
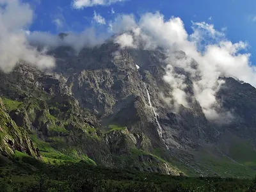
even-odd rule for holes
{"type": "Polygon", "coordinates": [[[72,7],[75,9],[83,9],[90,6],[109,6],[113,3],[123,2],[125,0],[73,0],[72,7]]]}

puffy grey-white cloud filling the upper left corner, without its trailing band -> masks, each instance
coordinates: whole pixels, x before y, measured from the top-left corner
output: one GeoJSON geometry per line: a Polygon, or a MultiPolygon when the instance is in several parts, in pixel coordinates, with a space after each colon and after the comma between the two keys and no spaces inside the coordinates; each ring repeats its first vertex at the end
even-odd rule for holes
{"type": "Polygon", "coordinates": [[[55,61],[44,51],[29,45],[27,28],[33,20],[33,11],[19,0],[0,0],[0,69],[10,72],[19,61],[26,61],[44,70],[54,67],[55,61]]]}

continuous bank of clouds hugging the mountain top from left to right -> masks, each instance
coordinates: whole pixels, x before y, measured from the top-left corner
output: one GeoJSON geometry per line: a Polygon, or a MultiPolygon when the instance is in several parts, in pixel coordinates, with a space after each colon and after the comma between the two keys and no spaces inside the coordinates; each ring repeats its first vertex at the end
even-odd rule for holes
{"type": "MultiPolygon", "coordinates": [[[[105,3],[110,2],[114,1],[105,3]]],[[[121,49],[164,48],[168,58],[163,80],[170,84],[172,97],[163,99],[170,105],[174,102],[175,106],[172,107],[175,109],[180,105],[189,108],[185,92],[187,85],[184,83],[186,77],[177,74],[175,67],[189,74],[195,99],[206,118],[212,121],[223,117],[232,120],[232,113],[225,111],[221,101],[216,99],[216,93],[225,85],[225,81],[219,80],[219,77],[236,77],[256,87],[256,68],[250,63],[250,53],[246,51],[248,44],[231,42],[223,31],[216,30],[214,25],[206,22],[192,22],[193,33],[188,34],[179,17],[166,20],[159,12],[145,13],[139,20],[134,15],[117,15],[111,21],[103,20],[95,12],[97,23],[108,24],[109,33],[100,33],[97,28],[91,27],[80,33],[67,31],[61,38],[48,32],[29,31],[34,18],[29,4],[19,0],[0,0],[0,4],[0,69],[4,72],[12,71],[19,61],[26,61],[41,70],[51,70],[55,60],[47,55],[49,49],[70,46],[79,52],[83,47],[101,45],[115,34],[113,41],[120,44],[121,49]],[[44,49],[38,51],[32,45],[41,45],[44,49]],[[180,56],[179,51],[185,54],[180,56]]],[[[90,3],[84,6],[90,6],[90,3]]]]}

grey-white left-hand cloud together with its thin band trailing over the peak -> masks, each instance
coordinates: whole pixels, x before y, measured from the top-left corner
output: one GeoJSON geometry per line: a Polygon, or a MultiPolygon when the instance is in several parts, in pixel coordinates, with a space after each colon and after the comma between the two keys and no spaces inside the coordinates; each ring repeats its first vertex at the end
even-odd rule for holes
{"type": "Polygon", "coordinates": [[[19,61],[40,70],[51,70],[55,67],[55,59],[47,55],[50,49],[69,46],[78,53],[83,47],[100,45],[109,37],[108,33],[97,33],[94,27],[80,33],[67,31],[63,38],[45,31],[29,31],[35,15],[28,3],[0,0],[0,5],[0,69],[6,73],[19,61]]]}

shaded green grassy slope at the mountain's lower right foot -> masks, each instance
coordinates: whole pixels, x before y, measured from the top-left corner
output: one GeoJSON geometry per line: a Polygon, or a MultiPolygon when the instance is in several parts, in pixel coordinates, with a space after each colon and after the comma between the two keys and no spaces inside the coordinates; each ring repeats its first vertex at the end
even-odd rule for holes
{"type": "MultiPolygon", "coordinates": [[[[161,153],[161,149],[156,149],[154,154],[161,157],[161,153]]],[[[179,158],[168,161],[192,177],[252,178],[256,175],[256,151],[252,143],[229,132],[223,134],[218,147],[205,145],[198,151],[177,152],[176,156],[179,158]]]]}

